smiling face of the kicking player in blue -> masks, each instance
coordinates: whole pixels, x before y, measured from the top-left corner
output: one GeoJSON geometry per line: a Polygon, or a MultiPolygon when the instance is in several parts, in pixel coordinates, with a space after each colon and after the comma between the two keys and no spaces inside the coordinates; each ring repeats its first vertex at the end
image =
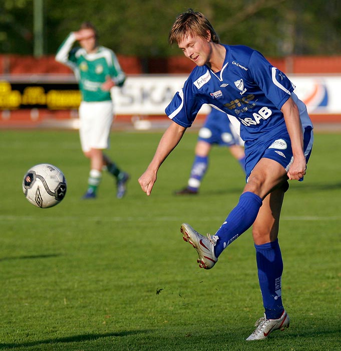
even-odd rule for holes
{"type": "Polygon", "coordinates": [[[178,46],[197,66],[203,66],[210,61],[212,46],[209,38],[205,39],[198,35],[188,36],[179,42],[178,46]]]}

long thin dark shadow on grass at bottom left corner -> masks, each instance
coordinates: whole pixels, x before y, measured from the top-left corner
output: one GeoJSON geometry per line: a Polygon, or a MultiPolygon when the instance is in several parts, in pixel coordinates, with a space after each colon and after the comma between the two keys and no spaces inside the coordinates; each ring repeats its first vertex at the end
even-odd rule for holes
{"type": "Polygon", "coordinates": [[[12,343],[0,343],[0,349],[14,349],[17,347],[30,347],[30,346],[38,346],[43,344],[55,344],[55,343],[68,343],[68,342],[80,342],[80,341],[88,341],[88,340],[96,340],[102,337],[122,337],[128,336],[132,334],[145,333],[147,330],[134,330],[134,331],[122,331],[117,333],[103,333],[103,334],[84,334],[84,335],[74,335],[74,336],[66,336],[66,337],[58,337],[55,339],[47,339],[47,340],[37,340],[31,342],[12,342],[12,343]]]}

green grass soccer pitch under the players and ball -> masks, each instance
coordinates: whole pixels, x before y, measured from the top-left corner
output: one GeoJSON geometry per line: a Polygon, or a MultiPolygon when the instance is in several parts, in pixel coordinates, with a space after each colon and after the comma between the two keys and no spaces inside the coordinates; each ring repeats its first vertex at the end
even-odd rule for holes
{"type": "Polygon", "coordinates": [[[220,351],[341,349],[341,135],[316,134],[307,175],[286,194],[279,242],[290,328],[246,342],[263,314],[248,230],[210,271],[182,240],[182,222],[213,233],[244,185],[227,149],[214,148],[196,198],[186,184],[196,134],[162,165],[151,197],[137,179],[160,133],[112,134],[109,154],[132,178],[115,198],[104,174],[99,197],[81,201],[88,161],[74,131],[0,131],[0,349],[220,351]],[[39,209],[22,193],[25,171],[60,167],[66,198],[39,209]],[[223,175],[222,175],[223,174],[223,175]]]}

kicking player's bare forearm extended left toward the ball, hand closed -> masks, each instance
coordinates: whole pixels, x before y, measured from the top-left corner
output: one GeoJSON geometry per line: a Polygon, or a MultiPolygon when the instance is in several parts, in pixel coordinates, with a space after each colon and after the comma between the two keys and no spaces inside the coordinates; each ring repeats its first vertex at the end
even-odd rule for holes
{"type": "Polygon", "coordinates": [[[157,172],[162,162],[179,143],[185,130],[185,127],[172,122],[172,124],[164,132],[152,161],[150,162],[146,171],[139,178],[141,189],[147,194],[147,196],[150,196],[152,192],[153,186],[156,182],[157,172]]]}

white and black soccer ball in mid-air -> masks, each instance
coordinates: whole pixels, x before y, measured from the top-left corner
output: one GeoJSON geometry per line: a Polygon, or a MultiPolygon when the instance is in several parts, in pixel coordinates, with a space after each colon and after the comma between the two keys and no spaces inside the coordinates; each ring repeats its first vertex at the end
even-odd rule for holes
{"type": "Polygon", "coordinates": [[[63,172],[49,163],[31,167],[23,179],[26,199],[37,207],[56,206],[65,197],[66,179],[63,172]]]}

